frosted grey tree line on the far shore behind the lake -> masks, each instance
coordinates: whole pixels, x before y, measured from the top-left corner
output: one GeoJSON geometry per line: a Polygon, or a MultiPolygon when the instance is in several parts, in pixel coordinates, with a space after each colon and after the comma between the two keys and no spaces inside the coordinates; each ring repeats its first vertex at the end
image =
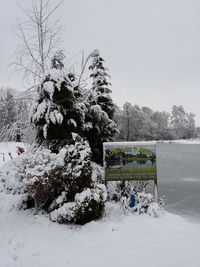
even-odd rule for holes
{"type": "Polygon", "coordinates": [[[116,107],[115,121],[119,132],[116,140],[173,140],[195,137],[195,115],[183,106],[174,105],[171,113],[154,111],[126,102],[116,107]]]}

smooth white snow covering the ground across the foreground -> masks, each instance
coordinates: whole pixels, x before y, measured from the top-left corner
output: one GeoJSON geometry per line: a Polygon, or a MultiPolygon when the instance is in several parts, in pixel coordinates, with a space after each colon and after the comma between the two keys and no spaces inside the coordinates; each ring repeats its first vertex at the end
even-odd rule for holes
{"type": "Polygon", "coordinates": [[[17,197],[0,193],[2,267],[199,267],[200,225],[179,216],[124,215],[107,203],[101,221],[59,225],[16,210],[17,197]]]}

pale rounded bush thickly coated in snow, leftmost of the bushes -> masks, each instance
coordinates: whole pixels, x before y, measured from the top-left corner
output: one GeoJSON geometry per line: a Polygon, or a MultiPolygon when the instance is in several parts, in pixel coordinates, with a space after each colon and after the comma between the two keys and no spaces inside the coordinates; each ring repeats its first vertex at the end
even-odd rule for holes
{"type": "Polygon", "coordinates": [[[42,147],[30,148],[1,168],[0,190],[24,195],[25,197],[22,199],[27,202],[28,207],[30,203],[31,207],[41,207],[41,202],[45,200],[45,192],[41,192],[41,200],[39,201],[39,188],[37,190],[35,188],[34,191],[32,186],[39,184],[39,181],[45,184],[49,173],[63,165],[60,154],[51,153],[50,150],[42,147]],[[31,199],[32,201],[30,201],[31,199]]]}

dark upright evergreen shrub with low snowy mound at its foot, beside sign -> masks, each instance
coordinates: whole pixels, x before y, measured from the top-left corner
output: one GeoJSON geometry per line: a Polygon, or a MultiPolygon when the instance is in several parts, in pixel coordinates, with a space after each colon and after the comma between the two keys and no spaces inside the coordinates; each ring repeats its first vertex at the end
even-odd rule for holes
{"type": "Polygon", "coordinates": [[[49,207],[51,219],[84,224],[103,215],[107,199],[102,172],[91,162],[91,149],[74,134],[75,143],[65,146],[63,191],[49,207]]]}

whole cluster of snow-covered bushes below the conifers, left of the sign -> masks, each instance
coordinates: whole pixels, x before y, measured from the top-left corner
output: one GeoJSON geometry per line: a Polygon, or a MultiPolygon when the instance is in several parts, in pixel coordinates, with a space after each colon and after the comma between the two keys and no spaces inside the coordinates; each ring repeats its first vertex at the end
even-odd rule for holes
{"type": "Polygon", "coordinates": [[[60,223],[101,218],[107,199],[102,170],[91,161],[89,144],[77,134],[72,139],[57,154],[33,147],[5,164],[0,190],[21,194],[26,207],[44,209],[60,223]]]}

